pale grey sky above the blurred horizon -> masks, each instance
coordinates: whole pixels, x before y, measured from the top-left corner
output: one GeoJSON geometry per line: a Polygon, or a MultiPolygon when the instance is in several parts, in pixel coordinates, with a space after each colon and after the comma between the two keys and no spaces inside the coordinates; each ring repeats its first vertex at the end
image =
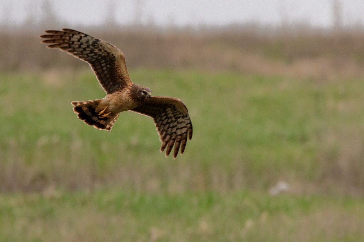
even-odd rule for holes
{"type": "MultiPolygon", "coordinates": [[[[328,27],[333,22],[333,0],[49,0],[57,17],[72,25],[97,25],[114,12],[120,24],[141,22],[167,26],[260,22],[280,24],[305,22],[328,27]]],[[[345,25],[364,24],[364,0],[337,0],[345,25]]],[[[0,24],[21,24],[33,15],[44,15],[44,0],[1,0],[0,24]]]]}

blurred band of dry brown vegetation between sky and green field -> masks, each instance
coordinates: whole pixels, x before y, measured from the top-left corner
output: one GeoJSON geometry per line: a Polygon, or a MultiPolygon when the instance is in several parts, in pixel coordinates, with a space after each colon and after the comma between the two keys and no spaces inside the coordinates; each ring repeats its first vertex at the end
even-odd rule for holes
{"type": "MultiPolygon", "coordinates": [[[[118,46],[131,68],[232,70],[332,79],[364,76],[361,29],[264,29],[251,26],[193,29],[77,28],[118,46]]],[[[86,66],[39,44],[44,29],[0,32],[0,70],[86,66]]]]}

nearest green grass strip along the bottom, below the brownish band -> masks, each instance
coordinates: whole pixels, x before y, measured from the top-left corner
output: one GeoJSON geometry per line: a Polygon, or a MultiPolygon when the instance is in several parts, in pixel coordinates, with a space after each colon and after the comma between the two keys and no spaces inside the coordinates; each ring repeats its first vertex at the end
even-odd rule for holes
{"type": "Polygon", "coordinates": [[[363,201],[103,189],[6,194],[0,241],[360,241],[363,201]]]}

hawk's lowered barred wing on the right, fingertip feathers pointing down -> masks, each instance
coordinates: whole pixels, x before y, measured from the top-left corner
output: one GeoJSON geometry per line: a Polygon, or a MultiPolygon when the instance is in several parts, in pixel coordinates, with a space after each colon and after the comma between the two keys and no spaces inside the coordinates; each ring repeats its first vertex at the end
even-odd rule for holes
{"type": "Polygon", "coordinates": [[[188,138],[192,138],[192,123],[185,104],[178,98],[153,96],[150,101],[130,111],[150,116],[162,141],[161,152],[167,147],[169,156],[174,145],[173,158],[185,151],[188,138]]]}

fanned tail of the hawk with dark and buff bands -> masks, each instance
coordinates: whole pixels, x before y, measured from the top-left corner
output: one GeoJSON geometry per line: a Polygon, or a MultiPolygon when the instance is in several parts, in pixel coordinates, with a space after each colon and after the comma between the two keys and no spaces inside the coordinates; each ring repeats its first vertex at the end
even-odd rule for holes
{"type": "Polygon", "coordinates": [[[102,99],[91,101],[71,102],[74,106],[73,111],[78,114],[78,118],[90,126],[94,126],[99,130],[110,131],[114,125],[118,114],[110,113],[105,117],[101,117],[99,112],[96,112],[96,107],[102,99]]]}

